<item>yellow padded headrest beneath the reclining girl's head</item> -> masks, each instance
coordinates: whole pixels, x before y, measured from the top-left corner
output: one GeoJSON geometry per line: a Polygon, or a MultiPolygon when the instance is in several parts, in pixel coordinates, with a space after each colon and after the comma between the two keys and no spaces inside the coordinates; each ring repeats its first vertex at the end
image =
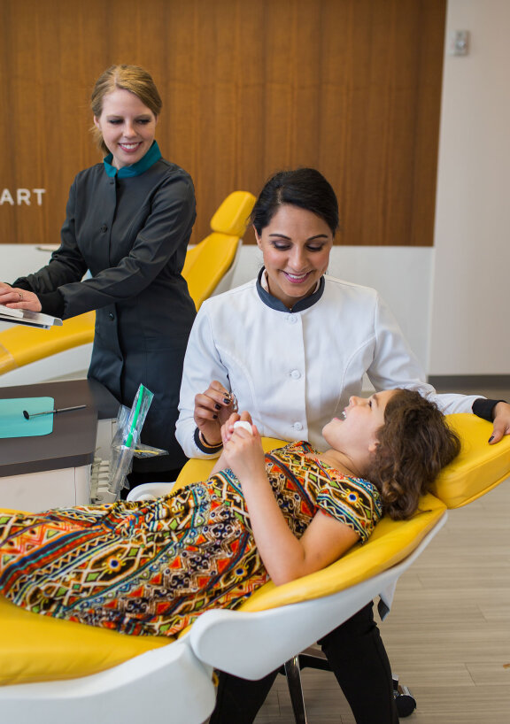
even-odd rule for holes
{"type": "Polygon", "coordinates": [[[495,445],[487,441],[492,423],[471,414],[447,415],[460,435],[458,458],[437,478],[433,492],[449,508],[460,508],[483,496],[510,475],[510,435],[495,445]]]}

